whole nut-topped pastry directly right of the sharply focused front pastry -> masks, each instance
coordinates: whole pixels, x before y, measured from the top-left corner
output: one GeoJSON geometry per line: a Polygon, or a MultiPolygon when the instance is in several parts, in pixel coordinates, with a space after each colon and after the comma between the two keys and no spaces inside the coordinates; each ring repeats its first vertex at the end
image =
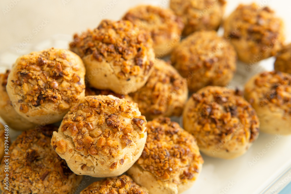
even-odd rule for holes
{"type": "Polygon", "coordinates": [[[178,194],[189,189],[202,170],[195,138],[170,118],[149,121],[141,157],[127,171],[149,194],[178,194]]]}

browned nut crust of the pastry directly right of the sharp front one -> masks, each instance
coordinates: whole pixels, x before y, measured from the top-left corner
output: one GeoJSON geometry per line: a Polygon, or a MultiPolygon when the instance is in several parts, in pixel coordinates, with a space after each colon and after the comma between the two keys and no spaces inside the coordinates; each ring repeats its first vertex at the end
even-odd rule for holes
{"type": "Polygon", "coordinates": [[[147,128],[145,148],[136,164],[157,180],[175,184],[194,181],[203,164],[195,138],[170,118],[149,121],[147,128]]]}

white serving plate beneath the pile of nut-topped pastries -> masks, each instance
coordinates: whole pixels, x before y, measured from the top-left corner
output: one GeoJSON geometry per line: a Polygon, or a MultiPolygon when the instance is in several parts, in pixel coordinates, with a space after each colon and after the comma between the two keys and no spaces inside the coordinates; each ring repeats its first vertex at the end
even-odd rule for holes
{"type": "MultiPolygon", "coordinates": [[[[158,1],[141,1],[143,3],[158,4],[163,1],[168,3],[168,0],[158,1]]],[[[238,0],[228,0],[226,14],[228,15],[238,5],[238,0]]],[[[276,10],[280,6],[291,7],[291,3],[278,5],[272,0],[261,0],[260,2],[267,2],[272,4],[276,10]]],[[[244,3],[249,3],[247,0],[244,3]]],[[[128,3],[126,7],[132,7],[136,2],[128,3]]],[[[163,5],[166,5],[163,3],[163,5]]],[[[288,12],[283,12],[288,13],[288,12]]],[[[279,13],[279,15],[282,13],[279,13]]],[[[282,16],[284,17],[284,16],[282,16]]],[[[287,16],[286,16],[287,17],[287,16]]],[[[116,18],[118,19],[118,18],[116,18]]],[[[288,21],[290,16],[288,15],[288,21]]],[[[290,29],[291,26],[289,26],[290,29]]],[[[72,32],[73,33],[73,32],[72,32]]],[[[222,31],[219,31],[221,34],[222,31]]],[[[14,47],[6,49],[0,54],[0,72],[4,72],[7,68],[15,62],[16,58],[22,54],[28,54],[31,51],[38,51],[47,49],[49,47],[68,48],[72,35],[58,34],[39,42],[36,45],[28,44],[18,53],[14,47]]],[[[287,39],[290,37],[287,37],[287,39]]],[[[229,88],[243,89],[244,83],[254,74],[264,71],[272,70],[274,58],[261,61],[258,65],[253,66],[247,70],[244,63],[238,62],[237,74],[233,81],[227,86],[229,88]]],[[[1,120],[1,118],[0,118],[1,120]]],[[[173,118],[173,120],[180,122],[180,118],[173,118]]],[[[2,121],[2,120],[1,120],[2,121]]],[[[180,123],[182,124],[182,123],[180,123]]],[[[10,129],[10,137],[14,140],[20,132],[10,129]]],[[[183,194],[203,193],[203,194],[261,194],[279,193],[288,183],[291,182],[291,136],[268,135],[261,133],[258,140],[255,141],[249,151],[243,156],[233,160],[215,159],[203,155],[205,163],[203,165],[200,177],[197,179],[195,185],[183,194]]],[[[79,190],[83,190],[86,186],[96,181],[96,178],[84,178],[79,186],[79,190]]],[[[77,192],[79,193],[79,192],[77,192]]],[[[291,191],[290,191],[291,193],[291,191]]]]}

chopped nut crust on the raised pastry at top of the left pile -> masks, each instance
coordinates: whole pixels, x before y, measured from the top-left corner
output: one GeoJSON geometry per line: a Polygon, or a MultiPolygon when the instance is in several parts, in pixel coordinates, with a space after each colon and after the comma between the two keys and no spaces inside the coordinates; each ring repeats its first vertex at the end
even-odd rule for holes
{"type": "Polygon", "coordinates": [[[152,69],[152,44],[150,33],[129,21],[103,20],[97,28],[75,34],[70,49],[81,58],[92,55],[98,62],[110,63],[118,79],[129,79],[152,69]]]}

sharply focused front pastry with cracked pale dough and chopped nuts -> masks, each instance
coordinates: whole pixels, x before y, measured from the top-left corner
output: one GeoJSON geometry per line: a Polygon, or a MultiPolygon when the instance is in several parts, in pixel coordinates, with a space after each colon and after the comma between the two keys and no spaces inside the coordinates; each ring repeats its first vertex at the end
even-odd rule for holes
{"type": "Polygon", "coordinates": [[[145,125],[134,102],[112,95],[86,96],[65,115],[51,145],[76,174],[119,176],[140,157],[145,125]]]}

